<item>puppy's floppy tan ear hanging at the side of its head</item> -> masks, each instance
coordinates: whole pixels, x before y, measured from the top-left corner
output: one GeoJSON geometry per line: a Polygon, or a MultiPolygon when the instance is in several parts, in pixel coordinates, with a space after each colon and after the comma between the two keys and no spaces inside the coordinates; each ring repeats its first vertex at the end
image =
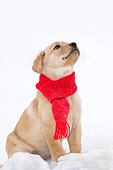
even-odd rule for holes
{"type": "Polygon", "coordinates": [[[35,71],[35,72],[37,72],[37,73],[39,73],[39,74],[42,73],[42,66],[43,66],[42,60],[43,60],[44,55],[45,55],[45,52],[44,52],[44,51],[41,51],[41,52],[38,54],[37,58],[36,58],[36,59],[34,60],[34,62],[33,62],[32,69],[33,69],[33,71],[35,71]]]}

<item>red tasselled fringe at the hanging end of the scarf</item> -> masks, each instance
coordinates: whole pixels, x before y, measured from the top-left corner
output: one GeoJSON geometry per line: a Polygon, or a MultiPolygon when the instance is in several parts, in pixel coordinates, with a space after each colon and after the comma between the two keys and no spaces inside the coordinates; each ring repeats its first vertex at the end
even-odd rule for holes
{"type": "Polygon", "coordinates": [[[69,138],[70,126],[67,122],[57,122],[53,139],[69,138]]]}

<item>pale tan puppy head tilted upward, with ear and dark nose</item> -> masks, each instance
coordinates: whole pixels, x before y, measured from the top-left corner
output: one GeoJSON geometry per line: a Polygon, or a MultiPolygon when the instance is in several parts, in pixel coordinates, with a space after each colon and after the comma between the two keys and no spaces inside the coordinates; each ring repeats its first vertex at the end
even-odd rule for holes
{"type": "Polygon", "coordinates": [[[32,69],[41,74],[44,70],[51,72],[68,66],[73,67],[79,55],[80,51],[76,43],[55,42],[39,53],[32,69]]]}

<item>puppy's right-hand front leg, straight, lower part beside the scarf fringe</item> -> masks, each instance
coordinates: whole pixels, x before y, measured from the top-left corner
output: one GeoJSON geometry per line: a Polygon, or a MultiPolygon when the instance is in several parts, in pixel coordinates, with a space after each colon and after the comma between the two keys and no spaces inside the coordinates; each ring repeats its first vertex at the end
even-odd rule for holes
{"type": "Polygon", "coordinates": [[[81,153],[81,134],[82,128],[80,118],[73,119],[72,131],[68,139],[70,153],[81,153]]]}

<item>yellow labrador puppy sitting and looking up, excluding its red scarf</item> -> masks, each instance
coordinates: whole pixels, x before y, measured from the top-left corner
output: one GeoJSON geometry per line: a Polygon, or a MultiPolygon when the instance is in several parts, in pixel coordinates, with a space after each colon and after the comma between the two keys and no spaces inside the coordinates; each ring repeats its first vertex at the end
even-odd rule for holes
{"type": "MultiPolygon", "coordinates": [[[[55,42],[41,51],[34,60],[32,69],[52,80],[72,74],[73,65],[80,55],[76,43],[55,42]]],[[[68,138],[71,153],[81,152],[81,101],[77,93],[67,97],[70,104],[68,138]]],[[[46,159],[52,156],[57,161],[65,155],[61,140],[54,140],[55,120],[51,103],[38,91],[36,98],[23,112],[14,131],[8,135],[6,150],[10,158],[16,152],[39,154],[46,159]]]]}

